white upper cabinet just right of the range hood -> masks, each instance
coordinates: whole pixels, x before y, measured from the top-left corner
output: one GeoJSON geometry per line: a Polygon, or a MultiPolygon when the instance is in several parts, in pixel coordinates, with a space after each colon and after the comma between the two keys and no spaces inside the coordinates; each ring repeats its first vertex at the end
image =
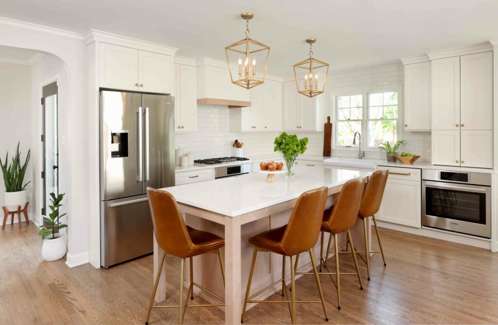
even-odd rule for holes
{"type": "Polygon", "coordinates": [[[249,91],[250,107],[230,108],[230,130],[261,132],[282,130],[282,83],[268,80],[249,91]]]}

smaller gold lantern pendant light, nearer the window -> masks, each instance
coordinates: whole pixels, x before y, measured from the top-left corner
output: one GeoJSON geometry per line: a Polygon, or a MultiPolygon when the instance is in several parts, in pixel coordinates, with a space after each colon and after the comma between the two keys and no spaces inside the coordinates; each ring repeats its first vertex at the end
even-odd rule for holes
{"type": "Polygon", "coordinates": [[[307,60],[294,64],[294,77],[296,79],[296,87],[299,94],[307,97],[315,97],[325,91],[325,84],[327,83],[327,74],[329,73],[329,64],[313,58],[313,51],[311,46],[316,42],[314,38],[308,38],[306,43],[310,45],[310,57],[307,60]],[[296,68],[298,68],[296,71],[296,68]],[[298,79],[298,73],[301,75],[302,70],[305,70],[304,83],[302,79],[298,79]],[[323,79],[323,83],[321,80],[323,79]],[[301,82],[300,82],[301,81],[301,82]]]}

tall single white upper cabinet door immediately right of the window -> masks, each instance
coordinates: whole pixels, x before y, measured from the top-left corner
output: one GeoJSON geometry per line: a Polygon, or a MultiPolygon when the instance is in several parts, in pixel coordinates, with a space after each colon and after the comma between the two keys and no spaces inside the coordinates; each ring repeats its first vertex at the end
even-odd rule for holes
{"type": "Polygon", "coordinates": [[[405,130],[431,129],[431,63],[407,64],[405,70],[405,130]]]}

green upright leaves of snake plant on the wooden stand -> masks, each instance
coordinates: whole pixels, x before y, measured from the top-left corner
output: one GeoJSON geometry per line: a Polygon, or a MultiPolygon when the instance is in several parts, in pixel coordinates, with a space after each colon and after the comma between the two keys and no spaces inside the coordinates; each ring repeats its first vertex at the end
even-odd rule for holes
{"type": "Polygon", "coordinates": [[[26,160],[24,164],[21,165],[21,158],[19,152],[19,142],[17,142],[17,148],[15,149],[15,156],[12,157],[12,162],[7,166],[8,163],[8,151],[5,155],[5,162],[3,163],[0,158],[0,167],[3,173],[3,181],[5,182],[5,192],[20,192],[23,191],[26,186],[31,182],[27,182],[22,186],[24,181],[24,175],[26,174],[26,169],[28,167],[29,157],[31,156],[31,149],[28,150],[26,155],[26,160]]]}

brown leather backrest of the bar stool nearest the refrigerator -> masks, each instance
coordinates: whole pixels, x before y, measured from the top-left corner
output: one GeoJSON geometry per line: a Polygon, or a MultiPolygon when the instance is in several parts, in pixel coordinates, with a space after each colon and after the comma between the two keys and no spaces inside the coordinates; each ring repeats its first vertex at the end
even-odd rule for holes
{"type": "Polygon", "coordinates": [[[175,198],[166,191],[147,188],[157,244],[168,254],[186,256],[194,248],[175,198]]]}

